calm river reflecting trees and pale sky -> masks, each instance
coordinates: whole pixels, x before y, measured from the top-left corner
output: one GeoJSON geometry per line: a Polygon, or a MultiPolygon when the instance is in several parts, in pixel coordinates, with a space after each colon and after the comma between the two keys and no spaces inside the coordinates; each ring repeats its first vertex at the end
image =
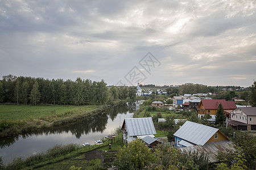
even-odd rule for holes
{"type": "Polygon", "coordinates": [[[57,129],[48,129],[38,133],[19,135],[13,138],[0,139],[0,156],[7,164],[17,156],[30,156],[37,152],[46,152],[55,145],[88,142],[104,138],[122,126],[124,118],[132,118],[133,112],[141,101],[109,107],[105,112],[85,118],[74,124],[57,129]]]}

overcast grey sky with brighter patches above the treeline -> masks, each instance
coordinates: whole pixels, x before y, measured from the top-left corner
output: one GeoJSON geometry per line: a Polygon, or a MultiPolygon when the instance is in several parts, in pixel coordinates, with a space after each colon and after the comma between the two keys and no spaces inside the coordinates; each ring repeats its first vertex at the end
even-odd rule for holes
{"type": "Polygon", "coordinates": [[[249,87],[255,0],[0,0],[0,77],[249,87]]]}

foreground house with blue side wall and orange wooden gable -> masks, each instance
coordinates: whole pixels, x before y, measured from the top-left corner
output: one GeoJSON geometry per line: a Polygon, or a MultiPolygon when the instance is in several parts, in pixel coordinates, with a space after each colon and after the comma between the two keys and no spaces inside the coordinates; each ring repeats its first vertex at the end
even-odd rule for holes
{"type": "Polygon", "coordinates": [[[186,121],[174,134],[174,145],[177,148],[226,141],[228,138],[219,129],[186,121]]]}

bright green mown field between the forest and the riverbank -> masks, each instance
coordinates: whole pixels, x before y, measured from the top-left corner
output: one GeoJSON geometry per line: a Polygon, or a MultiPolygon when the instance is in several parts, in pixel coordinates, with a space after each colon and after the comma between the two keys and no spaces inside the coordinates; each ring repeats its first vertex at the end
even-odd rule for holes
{"type": "Polygon", "coordinates": [[[1,120],[29,120],[52,116],[53,114],[63,114],[74,110],[84,112],[95,109],[96,105],[72,106],[72,105],[0,105],[1,120]]]}

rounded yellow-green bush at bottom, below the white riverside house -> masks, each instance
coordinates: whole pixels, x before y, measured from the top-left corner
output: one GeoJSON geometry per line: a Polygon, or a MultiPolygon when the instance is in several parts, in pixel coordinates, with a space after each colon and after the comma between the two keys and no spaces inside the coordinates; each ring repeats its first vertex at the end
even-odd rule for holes
{"type": "Polygon", "coordinates": [[[117,154],[115,165],[118,169],[141,169],[154,160],[151,150],[141,140],[131,141],[117,154]]]}

